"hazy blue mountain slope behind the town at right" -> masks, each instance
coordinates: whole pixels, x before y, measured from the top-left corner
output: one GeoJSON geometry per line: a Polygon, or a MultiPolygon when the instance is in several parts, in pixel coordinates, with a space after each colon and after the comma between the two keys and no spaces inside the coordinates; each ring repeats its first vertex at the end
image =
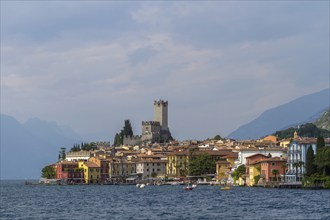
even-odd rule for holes
{"type": "Polygon", "coordinates": [[[228,135],[234,139],[258,139],[307,119],[329,108],[330,89],[297,98],[289,103],[269,109],[258,118],[239,127],[228,135]]]}

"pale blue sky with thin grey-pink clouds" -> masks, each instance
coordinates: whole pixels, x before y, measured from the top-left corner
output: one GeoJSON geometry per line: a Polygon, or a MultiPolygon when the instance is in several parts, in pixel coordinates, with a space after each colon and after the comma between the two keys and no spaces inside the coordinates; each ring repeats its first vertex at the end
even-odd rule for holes
{"type": "Polygon", "coordinates": [[[179,140],[226,136],[329,87],[328,1],[1,1],[1,113],[110,140],[169,102],[179,140]]]}

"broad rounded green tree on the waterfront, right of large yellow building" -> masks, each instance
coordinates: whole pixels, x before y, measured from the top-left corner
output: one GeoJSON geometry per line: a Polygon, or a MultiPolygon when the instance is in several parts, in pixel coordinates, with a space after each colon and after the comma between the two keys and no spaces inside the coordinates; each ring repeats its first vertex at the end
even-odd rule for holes
{"type": "Polygon", "coordinates": [[[216,172],[215,161],[207,153],[192,156],[189,164],[190,175],[198,176],[216,172]]]}

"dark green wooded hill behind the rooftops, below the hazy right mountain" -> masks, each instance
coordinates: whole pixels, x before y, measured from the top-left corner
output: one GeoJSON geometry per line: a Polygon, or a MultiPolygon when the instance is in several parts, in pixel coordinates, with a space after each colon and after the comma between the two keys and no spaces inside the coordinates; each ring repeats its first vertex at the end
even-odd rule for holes
{"type": "Polygon", "coordinates": [[[276,131],[273,135],[275,135],[279,139],[293,138],[293,133],[296,130],[300,137],[318,137],[320,135],[322,135],[322,136],[330,135],[330,131],[328,131],[326,129],[320,129],[312,123],[307,123],[307,124],[301,125],[298,129],[288,128],[286,130],[276,131]]]}

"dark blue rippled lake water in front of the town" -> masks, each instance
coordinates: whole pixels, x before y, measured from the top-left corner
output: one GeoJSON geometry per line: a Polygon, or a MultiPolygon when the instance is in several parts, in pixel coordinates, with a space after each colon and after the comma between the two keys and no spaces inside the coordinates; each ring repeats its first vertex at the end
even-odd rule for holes
{"type": "Polygon", "coordinates": [[[330,190],[0,183],[0,219],[330,219],[330,190]]]}

